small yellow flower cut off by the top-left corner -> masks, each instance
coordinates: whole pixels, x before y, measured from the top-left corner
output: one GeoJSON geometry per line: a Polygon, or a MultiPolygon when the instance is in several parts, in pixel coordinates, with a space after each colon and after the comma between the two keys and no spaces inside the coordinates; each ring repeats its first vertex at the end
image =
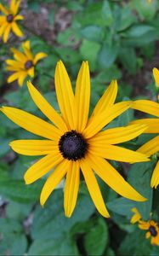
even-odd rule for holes
{"type": "Polygon", "coordinates": [[[3,12],[3,15],[0,15],[0,37],[3,37],[4,43],[8,41],[10,31],[13,31],[17,37],[23,36],[17,25],[17,20],[24,19],[22,15],[18,15],[19,7],[20,0],[11,0],[8,9],[0,3],[0,11],[3,12]]]}

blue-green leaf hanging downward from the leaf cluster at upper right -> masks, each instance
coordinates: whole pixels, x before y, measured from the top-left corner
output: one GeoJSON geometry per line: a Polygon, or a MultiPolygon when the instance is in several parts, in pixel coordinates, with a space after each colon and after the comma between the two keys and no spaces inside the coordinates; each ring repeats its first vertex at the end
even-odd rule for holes
{"type": "Polygon", "coordinates": [[[113,44],[104,44],[99,51],[98,62],[99,67],[109,68],[116,60],[118,54],[118,44],[114,42],[113,44]]]}

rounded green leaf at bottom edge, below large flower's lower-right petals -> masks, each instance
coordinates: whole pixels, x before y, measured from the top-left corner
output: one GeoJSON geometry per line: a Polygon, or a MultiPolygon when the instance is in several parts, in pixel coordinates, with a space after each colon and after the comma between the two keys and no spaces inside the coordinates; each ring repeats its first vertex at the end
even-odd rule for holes
{"type": "Polygon", "coordinates": [[[88,255],[102,255],[108,243],[108,229],[104,218],[94,218],[92,227],[84,236],[84,247],[88,255]]]}

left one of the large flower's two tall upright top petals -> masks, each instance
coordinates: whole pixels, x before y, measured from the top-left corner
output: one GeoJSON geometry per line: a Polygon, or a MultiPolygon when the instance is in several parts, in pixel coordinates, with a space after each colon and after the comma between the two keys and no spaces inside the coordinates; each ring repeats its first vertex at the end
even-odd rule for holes
{"type": "Polygon", "coordinates": [[[56,96],[62,117],[70,129],[75,129],[75,97],[71,88],[71,81],[62,61],[59,61],[54,75],[56,96]]]}

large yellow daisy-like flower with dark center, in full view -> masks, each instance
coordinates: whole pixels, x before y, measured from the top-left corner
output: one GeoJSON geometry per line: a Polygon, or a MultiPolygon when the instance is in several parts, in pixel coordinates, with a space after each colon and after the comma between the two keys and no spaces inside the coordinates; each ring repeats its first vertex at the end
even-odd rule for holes
{"type": "Polygon", "coordinates": [[[54,172],[50,173],[43,186],[40,197],[42,206],[65,177],[65,215],[71,217],[77,203],[80,169],[94,205],[104,217],[108,218],[109,213],[94,172],[118,194],[133,201],[145,201],[145,198],[139,195],[105,160],[128,162],[148,160],[144,154],[115,145],[139,136],[145,130],[145,125],[128,125],[101,131],[105,125],[108,125],[131,105],[131,102],[114,104],[117,94],[116,81],[111,82],[89,119],[90,77],[87,61],[82,62],[75,93],[62,61],[59,61],[56,66],[55,90],[61,116],[31,82],[28,82],[28,89],[37,107],[54,124],[17,108],[3,107],[1,110],[15,124],[46,138],[45,140],[18,140],[10,143],[11,148],[17,153],[46,155],[27,170],[26,184],[35,182],[54,168],[54,172]]]}

